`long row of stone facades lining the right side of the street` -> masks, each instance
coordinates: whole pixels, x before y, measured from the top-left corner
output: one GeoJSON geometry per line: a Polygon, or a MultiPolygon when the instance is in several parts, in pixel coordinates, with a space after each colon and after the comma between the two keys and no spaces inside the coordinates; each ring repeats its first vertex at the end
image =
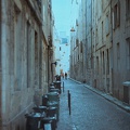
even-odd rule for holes
{"type": "Polygon", "coordinates": [[[81,0],[80,10],[80,29],[76,25],[76,31],[72,31],[70,68],[77,66],[72,78],[130,104],[130,89],[122,86],[130,80],[130,0],[81,0]],[[79,39],[76,34],[82,35],[83,49],[79,53],[82,58],[74,65],[77,52],[73,42],[79,39]]]}

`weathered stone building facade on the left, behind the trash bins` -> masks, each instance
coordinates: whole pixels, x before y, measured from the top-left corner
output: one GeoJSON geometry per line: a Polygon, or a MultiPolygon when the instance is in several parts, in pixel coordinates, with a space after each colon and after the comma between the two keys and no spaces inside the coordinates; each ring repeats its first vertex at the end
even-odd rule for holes
{"type": "Polygon", "coordinates": [[[51,0],[0,0],[0,130],[25,130],[51,81],[51,0]]]}

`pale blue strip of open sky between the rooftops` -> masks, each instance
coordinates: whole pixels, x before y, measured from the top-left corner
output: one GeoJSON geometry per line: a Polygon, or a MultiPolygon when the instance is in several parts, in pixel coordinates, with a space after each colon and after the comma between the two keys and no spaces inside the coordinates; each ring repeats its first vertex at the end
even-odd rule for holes
{"type": "MultiPolygon", "coordinates": [[[[76,0],[73,1],[75,2],[76,0]]],[[[52,0],[52,11],[57,32],[65,31],[69,36],[75,20],[72,0],[52,0]]]]}

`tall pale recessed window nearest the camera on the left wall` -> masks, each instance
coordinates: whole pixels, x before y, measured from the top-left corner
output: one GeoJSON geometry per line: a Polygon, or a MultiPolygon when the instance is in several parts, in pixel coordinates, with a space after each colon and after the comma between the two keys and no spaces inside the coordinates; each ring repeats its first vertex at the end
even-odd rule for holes
{"type": "Polygon", "coordinates": [[[14,4],[14,52],[13,52],[13,64],[14,64],[14,76],[15,76],[15,90],[20,91],[22,87],[22,14],[21,10],[14,4]]]}

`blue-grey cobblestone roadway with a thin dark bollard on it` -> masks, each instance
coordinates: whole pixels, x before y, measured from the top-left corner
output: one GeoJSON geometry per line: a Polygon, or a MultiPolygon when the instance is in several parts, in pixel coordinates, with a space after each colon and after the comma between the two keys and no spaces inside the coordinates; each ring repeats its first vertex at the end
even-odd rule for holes
{"type": "Polygon", "coordinates": [[[64,81],[57,130],[130,130],[130,114],[82,83],[64,81]],[[67,92],[72,96],[69,115],[67,92]]]}

